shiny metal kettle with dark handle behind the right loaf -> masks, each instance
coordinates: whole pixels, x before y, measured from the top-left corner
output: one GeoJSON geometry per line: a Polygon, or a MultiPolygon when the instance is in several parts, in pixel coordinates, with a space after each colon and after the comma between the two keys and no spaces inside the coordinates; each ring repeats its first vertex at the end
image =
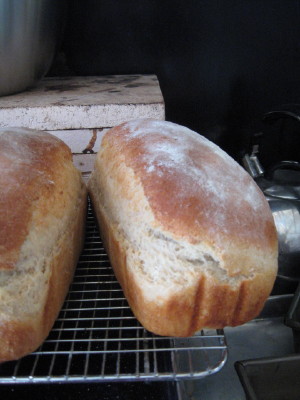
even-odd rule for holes
{"type": "MultiPolygon", "coordinates": [[[[276,111],[265,116],[272,121],[286,117],[291,117],[290,112],[287,115],[276,111]]],[[[298,115],[293,117],[300,122],[298,115]]],[[[266,196],[276,225],[279,255],[274,290],[276,294],[294,292],[300,282],[300,162],[283,160],[265,170],[256,143],[242,163],[266,196]]]]}

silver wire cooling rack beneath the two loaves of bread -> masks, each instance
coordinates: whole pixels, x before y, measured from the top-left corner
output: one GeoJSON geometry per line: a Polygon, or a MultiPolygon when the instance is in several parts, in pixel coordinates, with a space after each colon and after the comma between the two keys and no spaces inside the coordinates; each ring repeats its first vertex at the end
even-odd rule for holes
{"type": "Polygon", "coordinates": [[[193,379],[219,371],[226,359],[222,330],[174,338],[139,324],[114,276],[89,202],[85,248],[53,329],[34,353],[0,364],[0,383],[193,379]]]}

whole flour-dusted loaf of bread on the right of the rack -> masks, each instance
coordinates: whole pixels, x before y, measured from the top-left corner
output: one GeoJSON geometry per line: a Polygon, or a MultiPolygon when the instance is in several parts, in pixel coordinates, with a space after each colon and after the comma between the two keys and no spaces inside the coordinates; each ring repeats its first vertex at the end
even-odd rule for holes
{"type": "Polygon", "coordinates": [[[275,225],[253,179],[218,146],[170,122],[124,123],[104,135],[88,190],[147,330],[184,337],[260,312],[277,272],[275,225]]]}

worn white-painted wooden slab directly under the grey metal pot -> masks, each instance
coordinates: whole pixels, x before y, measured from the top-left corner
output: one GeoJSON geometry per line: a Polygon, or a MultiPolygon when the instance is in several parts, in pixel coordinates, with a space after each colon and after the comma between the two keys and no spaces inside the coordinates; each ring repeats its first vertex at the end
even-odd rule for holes
{"type": "Polygon", "coordinates": [[[165,119],[155,75],[46,78],[31,90],[0,97],[0,127],[78,130],[136,118],[165,119]]]}

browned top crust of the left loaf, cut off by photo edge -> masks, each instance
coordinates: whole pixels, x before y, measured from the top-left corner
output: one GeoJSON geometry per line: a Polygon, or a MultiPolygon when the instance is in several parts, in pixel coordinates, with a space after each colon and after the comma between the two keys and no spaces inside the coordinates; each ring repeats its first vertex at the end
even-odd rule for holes
{"type": "Polygon", "coordinates": [[[41,191],[55,202],[51,197],[55,192],[53,175],[57,175],[62,160],[71,161],[71,153],[49,134],[29,129],[1,130],[0,269],[14,268],[41,191]]]}

